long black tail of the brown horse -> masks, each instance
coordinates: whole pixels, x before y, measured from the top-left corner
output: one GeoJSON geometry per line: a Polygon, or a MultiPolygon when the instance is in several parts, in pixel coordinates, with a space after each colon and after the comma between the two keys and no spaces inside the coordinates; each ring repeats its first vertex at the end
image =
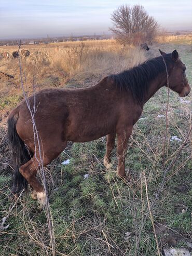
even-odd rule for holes
{"type": "Polygon", "coordinates": [[[21,140],[17,133],[17,120],[18,113],[11,115],[8,119],[8,139],[12,153],[13,167],[15,169],[12,193],[16,194],[21,192],[23,188],[25,188],[25,190],[27,189],[28,181],[26,181],[25,178],[21,175],[19,168],[21,165],[25,164],[31,159],[28,149],[26,149],[24,142],[21,140]]]}

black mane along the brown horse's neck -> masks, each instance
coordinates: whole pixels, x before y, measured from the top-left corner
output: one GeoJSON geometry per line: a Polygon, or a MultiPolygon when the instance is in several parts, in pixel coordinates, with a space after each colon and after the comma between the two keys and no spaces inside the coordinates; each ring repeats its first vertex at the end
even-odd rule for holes
{"type": "MultiPolygon", "coordinates": [[[[164,60],[169,71],[170,64],[173,63],[171,53],[163,55],[164,60]]],[[[149,82],[157,75],[166,71],[166,66],[163,62],[162,56],[150,59],[135,66],[130,70],[126,70],[119,74],[110,75],[108,78],[113,79],[121,91],[130,91],[133,97],[142,103],[145,93],[148,90],[149,82]]]]}

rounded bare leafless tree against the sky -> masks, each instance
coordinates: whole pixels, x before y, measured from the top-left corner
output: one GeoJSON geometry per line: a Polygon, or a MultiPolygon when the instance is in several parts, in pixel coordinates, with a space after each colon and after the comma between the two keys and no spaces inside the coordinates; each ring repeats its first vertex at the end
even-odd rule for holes
{"type": "Polygon", "coordinates": [[[109,28],[123,44],[151,43],[158,30],[157,21],[141,5],[119,6],[112,14],[113,27],[109,28]]]}

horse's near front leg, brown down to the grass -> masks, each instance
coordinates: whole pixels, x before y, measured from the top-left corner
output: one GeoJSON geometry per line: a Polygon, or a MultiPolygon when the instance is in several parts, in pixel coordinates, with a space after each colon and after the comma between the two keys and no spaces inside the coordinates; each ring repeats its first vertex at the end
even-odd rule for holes
{"type": "Polygon", "coordinates": [[[117,157],[118,157],[118,166],[117,174],[120,177],[125,177],[125,155],[127,151],[127,143],[129,137],[131,136],[133,126],[129,126],[126,129],[121,129],[117,131],[117,157]]]}

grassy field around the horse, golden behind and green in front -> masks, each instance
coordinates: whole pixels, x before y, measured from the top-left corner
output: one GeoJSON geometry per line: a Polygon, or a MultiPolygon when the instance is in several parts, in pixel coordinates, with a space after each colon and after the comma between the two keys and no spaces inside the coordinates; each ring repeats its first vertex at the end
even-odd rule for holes
{"type": "MultiPolygon", "coordinates": [[[[31,57],[22,59],[25,89],[30,95],[33,84],[36,90],[92,86],[108,74],[158,56],[158,48],[166,52],[178,50],[192,84],[190,41],[159,43],[145,52],[106,40],[31,46],[31,57]]],[[[11,46],[0,48],[0,51],[13,50],[16,48],[11,46]]],[[[21,195],[12,208],[16,199],[10,193],[12,169],[6,118],[23,98],[18,60],[0,60],[0,82],[0,219],[9,215],[4,224],[9,226],[0,230],[0,255],[52,255],[45,210],[38,208],[30,194],[21,195]]],[[[87,143],[68,143],[58,159],[45,169],[55,255],[158,255],[153,225],[160,253],[167,247],[191,250],[187,244],[192,242],[191,134],[155,200],[164,169],[175,159],[190,129],[191,95],[181,100],[170,91],[164,167],[166,88],[160,89],[146,103],[141,119],[134,126],[126,157],[126,170],[131,174],[131,182],[116,176],[115,149],[113,168],[106,170],[103,166],[105,137],[87,143]],[[173,136],[180,141],[172,140],[173,136]],[[62,165],[62,161],[67,159],[70,163],[62,165]],[[150,215],[148,204],[152,205],[154,200],[150,215]]]]}

